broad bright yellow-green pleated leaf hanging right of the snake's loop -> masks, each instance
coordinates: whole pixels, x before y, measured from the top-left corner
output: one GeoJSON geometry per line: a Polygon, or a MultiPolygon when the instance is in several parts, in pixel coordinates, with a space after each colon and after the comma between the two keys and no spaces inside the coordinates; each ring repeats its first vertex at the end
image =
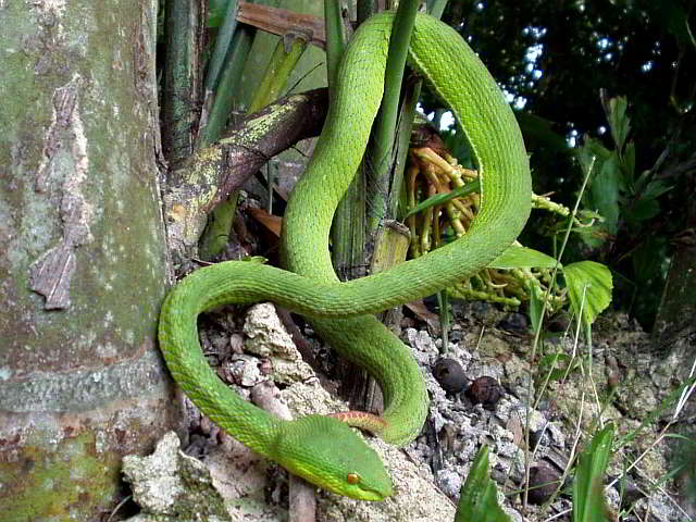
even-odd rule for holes
{"type": "Polygon", "coordinates": [[[583,324],[592,324],[611,302],[611,272],[601,263],[580,261],[563,268],[563,277],[573,312],[580,318],[582,307],[583,324]]]}

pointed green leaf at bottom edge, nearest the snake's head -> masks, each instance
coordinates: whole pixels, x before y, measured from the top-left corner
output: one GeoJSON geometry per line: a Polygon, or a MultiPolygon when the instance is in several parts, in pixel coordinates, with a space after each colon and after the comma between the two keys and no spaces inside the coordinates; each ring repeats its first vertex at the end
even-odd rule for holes
{"type": "Polygon", "coordinates": [[[459,490],[455,522],[510,522],[498,505],[495,482],[488,475],[488,448],[482,446],[459,490]]]}

